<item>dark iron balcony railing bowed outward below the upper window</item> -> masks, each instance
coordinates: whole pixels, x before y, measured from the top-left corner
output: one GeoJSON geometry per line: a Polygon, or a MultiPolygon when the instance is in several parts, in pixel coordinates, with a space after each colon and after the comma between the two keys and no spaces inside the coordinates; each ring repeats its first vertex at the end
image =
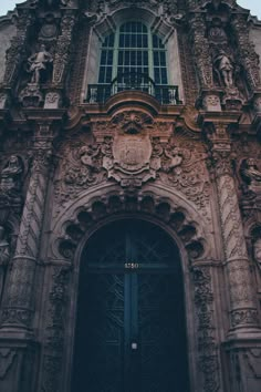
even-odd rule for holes
{"type": "Polygon", "coordinates": [[[104,103],[109,96],[123,91],[142,91],[153,95],[159,103],[166,105],[180,104],[177,85],[159,85],[146,74],[124,73],[109,84],[90,84],[87,103],[104,103]]]}

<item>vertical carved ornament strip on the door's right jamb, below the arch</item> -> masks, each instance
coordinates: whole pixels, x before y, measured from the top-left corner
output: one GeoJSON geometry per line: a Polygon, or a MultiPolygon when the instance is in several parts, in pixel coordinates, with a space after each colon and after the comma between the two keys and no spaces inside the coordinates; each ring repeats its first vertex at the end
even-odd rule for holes
{"type": "Polygon", "coordinates": [[[191,268],[195,305],[198,317],[199,369],[203,373],[205,392],[216,392],[218,380],[218,345],[215,337],[213,293],[209,267],[191,268]]]}

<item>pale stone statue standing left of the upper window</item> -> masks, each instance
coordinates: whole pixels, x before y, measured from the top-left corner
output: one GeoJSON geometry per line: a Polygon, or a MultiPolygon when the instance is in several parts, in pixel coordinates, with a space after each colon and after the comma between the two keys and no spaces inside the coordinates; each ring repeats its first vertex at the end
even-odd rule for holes
{"type": "Polygon", "coordinates": [[[39,52],[35,52],[28,59],[29,70],[32,74],[31,83],[39,84],[42,72],[46,70],[49,63],[53,62],[53,56],[48,52],[44,44],[40,47],[39,52]]]}

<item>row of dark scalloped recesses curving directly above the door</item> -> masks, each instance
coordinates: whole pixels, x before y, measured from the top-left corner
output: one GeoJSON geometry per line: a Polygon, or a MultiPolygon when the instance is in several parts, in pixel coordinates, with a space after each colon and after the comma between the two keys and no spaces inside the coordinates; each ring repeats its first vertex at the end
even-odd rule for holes
{"type": "Polygon", "coordinates": [[[125,196],[104,195],[103,202],[91,200],[90,205],[81,209],[74,224],[71,221],[65,225],[65,233],[60,239],[59,252],[67,260],[72,261],[77,244],[84,236],[86,229],[105,216],[121,213],[142,212],[160,218],[169,225],[184,243],[190,259],[200,258],[205,251],[203,240],[197,230],[197,227],[186,221],[184,213],[171,208],[171,202],[164,199],[163,202],[154,200],[153,196],[125,196]]]}

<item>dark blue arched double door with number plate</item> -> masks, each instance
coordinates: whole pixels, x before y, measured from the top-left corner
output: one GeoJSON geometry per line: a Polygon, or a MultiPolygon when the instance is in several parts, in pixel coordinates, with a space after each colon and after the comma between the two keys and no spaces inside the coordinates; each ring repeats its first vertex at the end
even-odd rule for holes
{"type": "Polygon", "coordinates": [[[81,260],[72,392],[188,392],[182,271],[158,226],[118,220],[81,260]]]}

